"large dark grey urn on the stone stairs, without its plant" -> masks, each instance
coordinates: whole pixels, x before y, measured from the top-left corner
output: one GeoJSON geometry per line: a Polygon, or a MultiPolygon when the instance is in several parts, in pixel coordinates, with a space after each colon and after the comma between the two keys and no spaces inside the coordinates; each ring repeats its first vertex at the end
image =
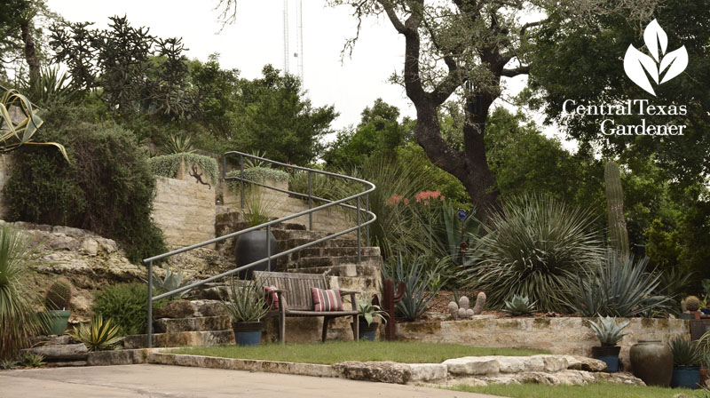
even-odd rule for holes
{"type": "MultiPolygon", "coordinates": [[[[275,255],[279,251],[276,237],[271,231],[256,230],[240,235],[237,240],[237,267],[244,267],[260,259],[266,259],[269,254],[275,255]]],[[[251,279],[254,271],[276,270],[276,260],[264,261],[256,267],[248,268],[239,273],[240,279],[251,279]]]]}

